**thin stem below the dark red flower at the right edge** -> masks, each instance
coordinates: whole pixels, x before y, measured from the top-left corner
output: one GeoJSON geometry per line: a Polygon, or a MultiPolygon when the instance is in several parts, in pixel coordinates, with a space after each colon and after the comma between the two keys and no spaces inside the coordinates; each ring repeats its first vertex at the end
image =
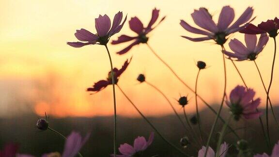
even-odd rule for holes
{"type": "MultiPolygon", "coordinates": [[[[269,91],[271,88],[271,84],[272,84],[272,79],[273,79],[273,70],[274,70],[274,64],[275,64],[275,57],[276,57],[276,38],[274,37],[274,56],[273,56],[273,62],[272,62],[272,68],[271,68],[271,76],[270,76],[270,81],[269,81],[269,86],[267,89],[267,94],[266,94],[266,108],[265,108],[265,114],[266,114],[266,130],[267,130],[267,139],[269,141],[269,145],[271,145],[270,143],[270,135],[269,135],[269,123],[268,123],[268,98],[269,98],[269,91]]],[[[271,110],[273,111],[272,105],[270,104],[271,110]]]]}

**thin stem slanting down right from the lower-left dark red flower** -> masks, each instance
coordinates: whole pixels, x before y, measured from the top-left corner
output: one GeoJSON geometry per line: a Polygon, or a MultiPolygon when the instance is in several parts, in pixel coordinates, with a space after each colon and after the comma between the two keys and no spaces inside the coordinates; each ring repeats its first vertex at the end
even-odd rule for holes
{"type": "Polygon", "coordinates": [[[141,113],[141,111],[138,109],[138,107],[132,102],[132,100],[124,93],[124,91],[120,88],[118,84],[116,84],[118,89],[124,94],[124,96],[127,98],[127,100],[133,105],[133,107],[140,113],[140,116],[154,129],[154,131],[160,136],[162,140],[164,140],[166,143],[168,143],[171,147],[176,149],[179,153],[183,154],[186,157],[189,157],[185,152],[180,150],[178,147],[176,147],[174,144],[172,144],[170,141],[168,141],[158,130],[157,128],[141,113]]]}

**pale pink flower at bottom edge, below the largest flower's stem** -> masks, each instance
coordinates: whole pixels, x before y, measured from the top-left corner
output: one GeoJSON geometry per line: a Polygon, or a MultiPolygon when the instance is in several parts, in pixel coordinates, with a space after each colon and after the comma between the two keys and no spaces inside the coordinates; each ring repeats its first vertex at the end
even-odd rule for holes
{"type": "MultiPolygon", "coordinates": [[[[227,152],[228,152],[228,146],[229,146],[229,144],[227,144],[226,142],[221,144],[220,151],[219,151],[220,153],[217,157],[226,157],[227,152]]],[[[199,151],[198,157],[204,157],[205,150],[206,150],[206,147],[202,146],[202,149],[200,149],[200,151],[199,151]]],[[[208,147],[206,157],[215,157],[215,152],[211,147],[208,147]]]]}

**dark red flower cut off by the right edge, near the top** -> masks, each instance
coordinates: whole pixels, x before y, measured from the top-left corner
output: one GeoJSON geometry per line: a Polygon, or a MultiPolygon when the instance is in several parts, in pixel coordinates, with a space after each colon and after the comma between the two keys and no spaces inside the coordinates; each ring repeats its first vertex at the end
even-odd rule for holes
{"type": "Polygon", "coordinates": [[[279,30],[279,19],[277,17],[274,20],[267,20],[258,24],[258,27],[253,24],[248,24],[243,30],[239,31],[246,34],[262,34],[268,33],[270,37],[276,37],[279,30]]]}

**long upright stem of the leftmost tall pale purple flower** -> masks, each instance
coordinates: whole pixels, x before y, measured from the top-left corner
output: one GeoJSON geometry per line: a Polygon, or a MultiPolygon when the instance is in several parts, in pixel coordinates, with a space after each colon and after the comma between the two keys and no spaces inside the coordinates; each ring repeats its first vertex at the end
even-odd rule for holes
{"type": "Polygon", "coordinates": [[[112,90],[113,90],[113,107],[114,107],[114,121],[113,121],[113,156],[116,157],[116,98],[115,98],[115,80],[114,80],[114,72],[113,72],[113,65],[109,53],[109,48],[105,45],[108,55],[109,55],[109,62],[110,62],[110,69],[111,69],[111,80],[112,80],[112,90]]]}

